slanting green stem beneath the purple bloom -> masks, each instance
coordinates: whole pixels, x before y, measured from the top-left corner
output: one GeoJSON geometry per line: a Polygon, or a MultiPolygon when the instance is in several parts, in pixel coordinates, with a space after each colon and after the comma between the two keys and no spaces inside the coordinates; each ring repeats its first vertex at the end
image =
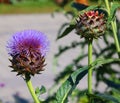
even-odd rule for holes
{"type": "Polygon", "coordinates": [[[31,80],[30,79],[26,79],[26,84],[27,84],[27,87],[28,87],[28,89],[29,89],[29,91],[31,93],[31,96],[32,96],[34,102],[35,103],[40,103],[40,101],[38,100],[38,98],[37,98],[37,96],[35,94],[35,91],[34,91],[34,88],[32,86],[31,80]]]}

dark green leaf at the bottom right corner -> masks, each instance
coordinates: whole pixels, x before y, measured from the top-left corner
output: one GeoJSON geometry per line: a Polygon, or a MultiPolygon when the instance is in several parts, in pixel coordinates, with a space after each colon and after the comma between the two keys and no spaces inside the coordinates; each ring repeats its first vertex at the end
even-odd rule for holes
{"type": "Polygon", "coordinates": [[[93,98],[98,98],[101,100],[108,100],[108,101],[112,101],[114,103],[120,103],[120,101],[118,99],[116,99],[115,97],[108,95],[108,94],[102,94],[102,93],[98,93],[98,94],[89,94],[89,96],[93,97],[93,98]]]}

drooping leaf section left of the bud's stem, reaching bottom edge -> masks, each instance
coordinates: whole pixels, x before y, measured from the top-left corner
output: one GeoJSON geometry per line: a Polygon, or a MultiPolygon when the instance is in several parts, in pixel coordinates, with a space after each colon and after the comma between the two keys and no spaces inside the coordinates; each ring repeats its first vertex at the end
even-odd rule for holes
{"type": "Polygon", "coordinates": [[[69,94],[74,90],[79,80],[82,79],[88,71],[88,67],[83,67],[81,69],[73,72],[70,77],[62,84],[56,93],[56,103],[64,103],[69,94]]]}

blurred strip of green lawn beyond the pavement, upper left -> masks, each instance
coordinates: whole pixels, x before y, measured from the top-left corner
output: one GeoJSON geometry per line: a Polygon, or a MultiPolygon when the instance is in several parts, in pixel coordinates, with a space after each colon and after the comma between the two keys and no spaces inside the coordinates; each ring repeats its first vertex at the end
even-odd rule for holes
{"type": "Polygon", "coordinates": [[[51,0],[24,1],[13,4],[0,4],[0,14],[48,13],[57,6],[51,0]]]}

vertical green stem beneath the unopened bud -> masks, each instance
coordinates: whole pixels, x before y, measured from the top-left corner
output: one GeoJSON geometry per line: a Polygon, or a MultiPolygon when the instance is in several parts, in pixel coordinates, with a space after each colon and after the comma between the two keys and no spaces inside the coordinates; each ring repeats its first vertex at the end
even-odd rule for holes
{"type": "MultiPolygon", "coordinates": [[[[92,40],[88,41],[88,65],[90,65],[91,63],[92,63],[92,40]]],[[[88,70],[88,93],[92,94],[92,68],[88,70]]]]}

